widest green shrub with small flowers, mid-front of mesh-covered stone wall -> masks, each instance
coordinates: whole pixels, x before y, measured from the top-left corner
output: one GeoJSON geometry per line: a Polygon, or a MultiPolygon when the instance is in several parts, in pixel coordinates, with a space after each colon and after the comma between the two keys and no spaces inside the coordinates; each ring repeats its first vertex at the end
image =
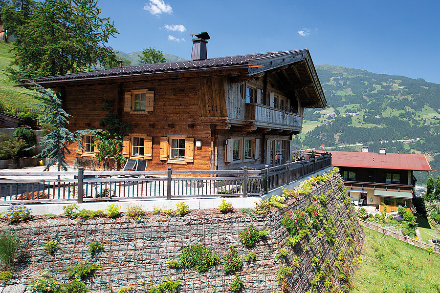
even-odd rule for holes
{"type": "Polygon", "coordinates": [[[220,263],[220,257],[212,253],[209,247],[205,244],[196,244],[185,247],[179,259],[168,262],[168,266],[170,268],[186,268],[205,272],[218,263],[220,263]]]}

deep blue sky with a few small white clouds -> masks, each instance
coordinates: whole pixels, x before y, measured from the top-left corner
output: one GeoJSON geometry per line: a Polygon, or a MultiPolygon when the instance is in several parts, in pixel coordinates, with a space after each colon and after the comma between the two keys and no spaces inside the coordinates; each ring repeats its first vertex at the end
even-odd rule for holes
{"type": "Polygon", "coordinates": [[[308,48],[333,64],[440,83],[440,1],[100,0],[126,53],[155,47],[191,57],[189,34],[208,32],[208,58],[308,48]]]}

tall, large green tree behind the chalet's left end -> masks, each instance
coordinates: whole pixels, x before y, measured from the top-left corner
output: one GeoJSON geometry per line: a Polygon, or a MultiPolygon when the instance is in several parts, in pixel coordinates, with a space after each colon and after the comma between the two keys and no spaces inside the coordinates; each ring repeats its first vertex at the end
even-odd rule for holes
{"type": "Polygon", "coordinates": [[[1,16],[17,39],[8,68],[13,80],[86,71],[116,58],[104,44],[118,31],[99,17],[97,0],[12,2],[1,16]]]}

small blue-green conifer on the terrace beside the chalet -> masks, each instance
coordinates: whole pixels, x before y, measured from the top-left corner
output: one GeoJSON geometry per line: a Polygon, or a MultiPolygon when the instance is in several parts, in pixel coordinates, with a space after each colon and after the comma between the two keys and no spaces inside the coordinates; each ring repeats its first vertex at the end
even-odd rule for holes
{"type": "Polygon", "coordinates": [[[58,163],[58,171],[67,170],[66,152],[70,153],[67,146],[76,142],[78,148],[84,149],[81,138],[86,134],[97,134],[100,130],[77,130],[70,132],[66,127],[69,124],[68,117],[71,116],[63,109],[63,102],[58,98],[57,93],[50,89],[45,89],[39,84],[34,84],[35,97],[42,104],[34,104],[39,109],[44,110],[44,114],[39,117],[41,124],[50,124],[54,128],[46,134],[39,143],[43,150],[38,155],[40,158],[49,159],[49,163],[44,168],[48,171],[50,166],[58,163]]]}

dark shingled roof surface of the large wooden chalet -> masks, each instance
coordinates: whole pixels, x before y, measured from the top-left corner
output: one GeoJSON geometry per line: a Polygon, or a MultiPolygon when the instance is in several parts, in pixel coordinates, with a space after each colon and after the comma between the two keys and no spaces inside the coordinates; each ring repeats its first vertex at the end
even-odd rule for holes
{"type": "Polygon", "coordinates": [[[117,77],[120,75],[136,75],[143,73],[159,73],[159,72],[180,71],[187,69],[203,69],[203,68],[215,68],[221,66],[245,65],[245,64],[249,64],[249,62],[252,60],[264,59],[267,57],[274,57],[277,55],[283,55],[292,52],[296,52],[296,51],[258,53],[258,54],[239,55],[239,56],[210,58],[206,60],[196,60],[196,61],[190,60],[190,61],[171,62],[171,63],[132,65],[132,66],[124,66],[122,68],[116,67],[116,68],[101,69],[101,70],[95,70],[89,72],[42,77],[42,78],[34,79],[33,81],[36,83],[45,83],[45,82],[63,81],[63,80],[66,81],[81,80],[81,79],[97,78],[97,77],[117,77]]]}

